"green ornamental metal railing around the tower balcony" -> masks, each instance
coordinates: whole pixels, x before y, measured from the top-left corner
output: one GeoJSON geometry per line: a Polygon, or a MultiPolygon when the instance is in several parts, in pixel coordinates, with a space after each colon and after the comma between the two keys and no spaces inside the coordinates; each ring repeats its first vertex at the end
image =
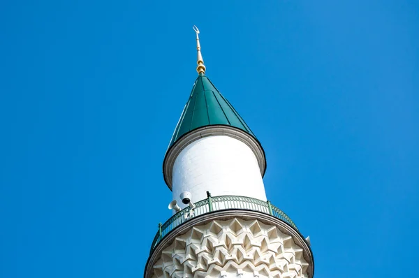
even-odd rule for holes
{"type": "Polygon", "coordinates": [[[219,210],[253,210],[256,212],[263,212],[265,214],[270,214],[273,217],[277,217],[282,221],[285,221],[298,231],[297,226],[295,226],[294,222],[288,217],[288,215],[286,215],[282,210],[279,210],[278,207],[272,205],[269,200],[264,202],[263,200],[244,196],[212,197],[208,193],[208,198],[200,200],[194,205],[195,207],[193,209],[188,206],[177,212],[163,225],[159,223],[159,231],[154,237],[150,253],[152,253],[157,245],[159,245],[161,240],[163,240],[163,238],[166,237],[166,235],[173,231],[177,226],[180,226],[184,222],[189,221],[194,217],[198,217],[199,215],[219,210]]]}

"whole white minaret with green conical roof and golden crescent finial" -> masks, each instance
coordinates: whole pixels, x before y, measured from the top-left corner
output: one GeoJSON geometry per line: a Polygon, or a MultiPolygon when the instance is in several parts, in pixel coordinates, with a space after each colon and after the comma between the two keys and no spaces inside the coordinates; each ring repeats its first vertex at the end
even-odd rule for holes
{"type": "Polygon", "coordinates": [[[263,147],[205,75],[193,29],[198,78],[163,161],[174,214],[159,224],[145,278],[311,278],[309,238],[267,200],[263,147]]]}

